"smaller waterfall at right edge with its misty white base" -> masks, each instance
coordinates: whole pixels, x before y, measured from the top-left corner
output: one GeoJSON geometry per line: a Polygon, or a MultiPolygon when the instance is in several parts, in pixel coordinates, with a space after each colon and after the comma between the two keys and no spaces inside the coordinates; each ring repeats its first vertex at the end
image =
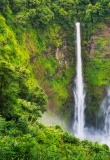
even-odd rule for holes
{"type": "Polygon", "coordinates": [[[100,127],[98,129],[85,128],[85,139],[106,143],[110,147],[110,88],[100,106],[99,115],[97,115],[100,127]]]}

